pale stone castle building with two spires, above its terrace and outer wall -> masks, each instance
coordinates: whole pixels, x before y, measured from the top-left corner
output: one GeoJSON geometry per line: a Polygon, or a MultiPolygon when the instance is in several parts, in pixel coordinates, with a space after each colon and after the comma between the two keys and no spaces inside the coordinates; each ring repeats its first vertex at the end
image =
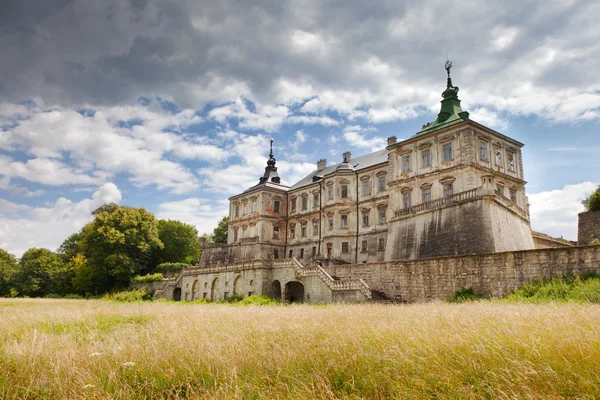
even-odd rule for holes
{"type": "Polygon", "coordinates": [[[296,258],[371,263],[533,249],[523,144],[469,119],[458,87],[407,140],[340,163],[319,160],[291,186],[271,153],[259,183],[231,197],[227,246],[202,265],[296,258]]]}

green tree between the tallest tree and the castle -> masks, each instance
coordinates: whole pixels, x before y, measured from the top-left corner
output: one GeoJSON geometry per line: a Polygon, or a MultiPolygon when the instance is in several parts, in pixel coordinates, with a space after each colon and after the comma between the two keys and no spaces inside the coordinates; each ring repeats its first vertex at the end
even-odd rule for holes
{"type": "Polygon", "coordinates": [[[179,221],[158,221],[158,237],[164,245],[157,249],[154,266],[161,263],[195,263],[200,259],[198,230],[179,221]]]}

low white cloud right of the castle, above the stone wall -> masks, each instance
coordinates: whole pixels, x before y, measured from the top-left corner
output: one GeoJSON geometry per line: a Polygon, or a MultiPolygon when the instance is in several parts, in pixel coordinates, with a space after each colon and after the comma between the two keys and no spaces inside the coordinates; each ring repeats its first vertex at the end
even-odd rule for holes
{"type": "Polygon", "coordinates": [[[596,187],[592,182],[582,182],[529,195],[531,228],[550,236],[577,240],[577,214],[584,211],[581,201],[596,187]]]}

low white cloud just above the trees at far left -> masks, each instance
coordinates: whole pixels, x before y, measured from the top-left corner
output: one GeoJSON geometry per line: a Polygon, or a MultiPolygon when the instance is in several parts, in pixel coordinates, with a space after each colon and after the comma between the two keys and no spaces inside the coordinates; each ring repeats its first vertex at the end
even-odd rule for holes
{"type": "Polygon", "coordinates": [[[0,200],[0,248],[21,256],[31,247],[55,250],[71,234],[92,220],[102,204],[122,199],[113,183],[105,183],[91,198],[74,202],[64,197],[49,207],[29,207],[0,200]]]}

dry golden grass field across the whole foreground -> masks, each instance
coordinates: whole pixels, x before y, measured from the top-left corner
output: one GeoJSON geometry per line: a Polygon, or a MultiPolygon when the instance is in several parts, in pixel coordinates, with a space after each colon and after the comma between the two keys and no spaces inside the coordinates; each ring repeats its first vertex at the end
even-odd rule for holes
{"type": "Polygon", "coordinates": [[[600,307],[0,299],[0,398],[599,398],[600,307]]]}

